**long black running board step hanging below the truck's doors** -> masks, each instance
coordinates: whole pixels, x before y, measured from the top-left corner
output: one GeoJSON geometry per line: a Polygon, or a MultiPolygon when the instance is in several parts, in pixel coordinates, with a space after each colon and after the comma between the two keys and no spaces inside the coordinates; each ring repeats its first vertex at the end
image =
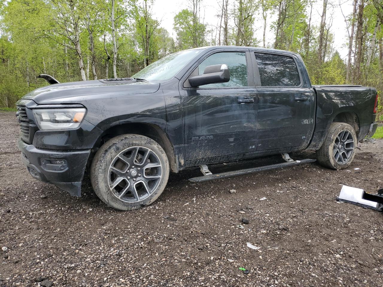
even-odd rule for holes
{"type": "Polygon", "coordinates": [[[245,168],[243,170],[227,171],[224,173],[198,176],[196,178],[190,178],[189,180],[194,183],[202,183],[204,181],[214,180],[218,178],[229,178],[231,176],[237,176],[237,175],[248,174],[248,173],[257,173],[259,171],[275,170],[277,168],[284,168],[284,167],[294,166],[294,165],[303,165],[304,163],[312,163],[314,161],[316,160],[307,158],[305,160],[294,160],[294,161],[288,161],[283,163],[277,163],[275,165],[259,166],[257,168],[245,168]]]}

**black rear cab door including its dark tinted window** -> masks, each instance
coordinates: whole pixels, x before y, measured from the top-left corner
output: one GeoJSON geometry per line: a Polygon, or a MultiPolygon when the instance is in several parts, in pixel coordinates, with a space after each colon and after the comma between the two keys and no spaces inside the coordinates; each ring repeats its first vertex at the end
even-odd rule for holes
{"type": "Polygon", "coordinates": [[[314,91],[292,54],[252,53],[258,91],[257,151],[306,147],[314,129],[314,91]]]}

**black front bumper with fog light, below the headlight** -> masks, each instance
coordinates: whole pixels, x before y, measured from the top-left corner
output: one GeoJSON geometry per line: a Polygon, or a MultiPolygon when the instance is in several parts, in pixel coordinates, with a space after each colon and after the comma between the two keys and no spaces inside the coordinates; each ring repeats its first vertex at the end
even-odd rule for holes
{"type": "Polygon", "coordinates": [[[90,149],[43,150],[18,141],[21,160],[31,176],[51,183],[73,196],[81,196],[81,182],[87,165],[90,149]]]}

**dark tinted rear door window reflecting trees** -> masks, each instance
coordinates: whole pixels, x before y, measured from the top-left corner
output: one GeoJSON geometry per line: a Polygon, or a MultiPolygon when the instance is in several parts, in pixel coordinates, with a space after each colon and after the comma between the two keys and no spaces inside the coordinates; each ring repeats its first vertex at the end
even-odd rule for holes
{"type": "Polygon", "coordinates": [[[300,86],[298,67],[292,57],[255,53],[261,86],[300,86]]]}

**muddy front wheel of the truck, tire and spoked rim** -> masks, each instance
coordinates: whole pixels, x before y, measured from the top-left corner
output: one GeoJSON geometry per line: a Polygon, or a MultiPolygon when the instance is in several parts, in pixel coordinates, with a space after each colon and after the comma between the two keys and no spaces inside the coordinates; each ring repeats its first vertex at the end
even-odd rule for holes
{"type": "Polygon", "coordinates": [[[136,134],[120,135],[106,142],[97,151],[90,171],[90,180],[97,196],[118,210],[135,210],[152,204],[164,191],[168,178],[169,160],[164,149],[154,140],[136,134]],[[138,164],[139,157],[141,165],[138,164]],[[154,167],[148,168],[145,164],[154,167]],[[149,174],[146,174],[148,171],[149,174]],[[149,189],[153,190],[152,193],[149,189]]]}

